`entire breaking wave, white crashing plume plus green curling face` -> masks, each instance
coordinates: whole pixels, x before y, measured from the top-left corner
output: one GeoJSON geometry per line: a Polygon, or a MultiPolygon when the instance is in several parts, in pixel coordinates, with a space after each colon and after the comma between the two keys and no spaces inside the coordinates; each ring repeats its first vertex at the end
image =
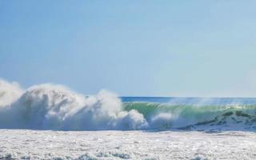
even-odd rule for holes
{"type": "Polygon", "coordinates": [[[60,85],[22,90],[16,82],[0,80],[0,128],[256,130],[256,106],[122,102],[106,90],[85,96],[60,85]]]}

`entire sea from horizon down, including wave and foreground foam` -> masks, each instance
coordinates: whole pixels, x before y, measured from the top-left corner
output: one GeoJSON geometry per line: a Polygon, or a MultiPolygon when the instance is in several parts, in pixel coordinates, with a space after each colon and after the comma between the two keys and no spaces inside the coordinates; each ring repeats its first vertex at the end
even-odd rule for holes
{"type": "Polygon", "coordinates": [[[255,98],[133,98],[0,80],[0,159],[256,159],[255,98]]]}

